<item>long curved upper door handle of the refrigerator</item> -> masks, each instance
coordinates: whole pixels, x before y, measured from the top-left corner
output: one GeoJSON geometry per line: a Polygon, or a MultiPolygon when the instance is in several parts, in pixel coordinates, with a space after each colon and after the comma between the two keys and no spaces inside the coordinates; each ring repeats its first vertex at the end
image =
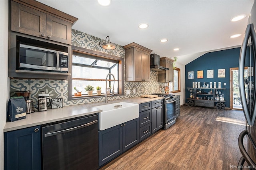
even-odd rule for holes
{"type": "MultiPolygon", "coordinates": [[[[255,110],[255,105],[254,105],[256,91],[254,91],[254,95],[253,95],[254,98],[252,101],[252,111],[250,111],[248,104],[247,104],[247,100],[246,100],[246,92],[245,92],[245,86],[244,86],[244,65],[245,65],[247,44],[248,44],[248,40],[249,40],[250,36],[251,36],[251,41],[252,41],[252,48],[254,50],[254,49],[256,49],[256,47],[255,47],[256,34],[255,34],[253,24],[249,24],[247,26],[245,34],[244,34],[244,40],[243,40],[242,47],[240,50],[240,58],[239,58],[238,83],[239,83],[240,97],[241,97],[241,102],[242,102],[242,106],[243,106],[244,115],[246,117],[246,121],[247,121],[248,125],[253,125],[255,118],[256,118],[256,110],[255,110]]],[[[255,62],[256,62],[256,58],[254,55],[254,73],[256,73],[255,62]]]]}

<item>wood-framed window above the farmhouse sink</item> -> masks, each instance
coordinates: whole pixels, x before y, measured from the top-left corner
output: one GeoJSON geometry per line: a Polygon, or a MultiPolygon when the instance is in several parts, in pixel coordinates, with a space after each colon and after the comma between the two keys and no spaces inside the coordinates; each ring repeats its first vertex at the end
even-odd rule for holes
{"type": "Polygon", "coordinates": [[[76,46],[72,48],[72,79],[69,81],[69,98],[104,97],[108,73],[114,74],[115,83],[112,77],[108,77],[107,87],[112,87],[115,84],[114,95],[123,94],[123,58],[76,46]],[[87,85],[94,87],[92,95],[88,95],[84,89],[87,85]],[[96,87],[98,86],[101,87],[101,93],[97,94],[96,87]],[[81,95],[75,94],[77,92],[74,87],[78,91],[82,91],[81,95]]]}

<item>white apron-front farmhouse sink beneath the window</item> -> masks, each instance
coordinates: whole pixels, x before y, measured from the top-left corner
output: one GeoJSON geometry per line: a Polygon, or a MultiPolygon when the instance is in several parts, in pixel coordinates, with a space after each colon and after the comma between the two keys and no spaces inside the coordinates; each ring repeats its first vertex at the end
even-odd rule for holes
{"type": "Polygon", "coordinates": [[[139,105],[134,103],[120,102],[94,107],[102,109],[99,120],[100,130],[105,130],[139,117],[139,105]],[[118,105],[120,108],[118,108],[118,105]],[[117,109],[115,109],[115,106],[117,109]]]}

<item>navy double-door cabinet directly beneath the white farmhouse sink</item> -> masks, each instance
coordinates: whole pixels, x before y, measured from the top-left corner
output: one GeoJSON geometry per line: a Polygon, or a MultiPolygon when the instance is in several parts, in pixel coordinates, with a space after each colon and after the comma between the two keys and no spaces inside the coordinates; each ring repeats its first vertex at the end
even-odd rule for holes
{"type": "Polygon", "coordinates": [[[99,166],[139,142],[139,119],[99,131],[99,166]]]}

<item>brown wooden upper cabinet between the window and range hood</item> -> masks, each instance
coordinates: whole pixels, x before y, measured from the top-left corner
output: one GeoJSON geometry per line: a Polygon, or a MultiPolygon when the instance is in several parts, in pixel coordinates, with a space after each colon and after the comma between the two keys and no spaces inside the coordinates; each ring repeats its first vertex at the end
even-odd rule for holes
{"type": "Polygon", "coordinates": [[[126,57],[126,81],[150,81],[151,49],[137,43],[124,46],[126,57]]]}

